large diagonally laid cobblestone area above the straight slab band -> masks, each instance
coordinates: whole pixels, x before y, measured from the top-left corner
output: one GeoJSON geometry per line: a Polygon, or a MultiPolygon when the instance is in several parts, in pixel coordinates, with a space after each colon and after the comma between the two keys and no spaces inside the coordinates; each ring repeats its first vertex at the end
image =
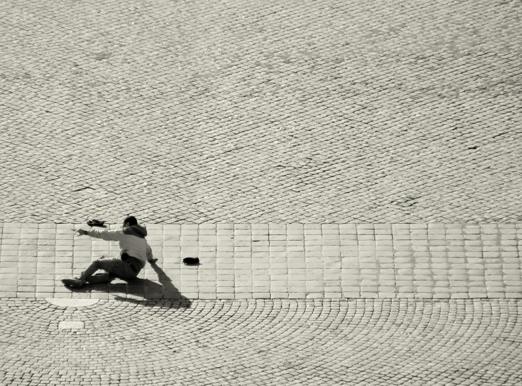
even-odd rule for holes
{"type": "Polygon", "coordinates": [[[513,222],[520,1],[4,1],[0,220],[513,222]]]}

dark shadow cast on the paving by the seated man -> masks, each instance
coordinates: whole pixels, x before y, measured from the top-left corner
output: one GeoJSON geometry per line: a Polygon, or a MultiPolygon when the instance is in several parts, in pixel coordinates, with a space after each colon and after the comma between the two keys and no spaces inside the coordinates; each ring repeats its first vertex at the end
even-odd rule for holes
{"type": "Polygon", "coordinates": [[[181,295],[178,288],[172,284],[171,279],[165,274],[163,269],[156,264],[150,265],[157,274],[159,283],[149,279],[132,279],[124,280],[120,278],[113,279],[108,283],[89,284],[83,288],[66,287],[71,292],[89,293],[89,292],[107,292],[112,294],[112,299],[124,302],[143,303],[168,300],[173,302],[173,306],[177,308],[190,308],[192,303],[188,298],[181,295]],[[119,296],[117,294],[126,294],[119,296]],[[129,295],[136,298],[129,298],[129,295]]]}

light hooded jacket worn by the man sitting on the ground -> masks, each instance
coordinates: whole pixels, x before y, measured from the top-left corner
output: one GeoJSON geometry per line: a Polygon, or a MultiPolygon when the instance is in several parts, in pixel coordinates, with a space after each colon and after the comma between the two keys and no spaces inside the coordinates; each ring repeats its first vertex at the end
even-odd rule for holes
{"type": "Polygon", "coordinates": [[[132,225],[123,230],[90,229],[87,234],[96,239],[119,241],[120,253],[126,252],[129,256],[140,259],[143,264],[153,258],[152,249],[145,240],[147,229],[140,225],[132,225]]]}

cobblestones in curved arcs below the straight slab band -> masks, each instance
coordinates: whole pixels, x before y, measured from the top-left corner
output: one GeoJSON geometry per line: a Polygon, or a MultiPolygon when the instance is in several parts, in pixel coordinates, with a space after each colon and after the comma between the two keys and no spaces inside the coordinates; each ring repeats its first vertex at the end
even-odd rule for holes
{"type": "Polygon", "coordinates": [[[521,301],[0,301],[5,385],[520,385],[521,301]]]}

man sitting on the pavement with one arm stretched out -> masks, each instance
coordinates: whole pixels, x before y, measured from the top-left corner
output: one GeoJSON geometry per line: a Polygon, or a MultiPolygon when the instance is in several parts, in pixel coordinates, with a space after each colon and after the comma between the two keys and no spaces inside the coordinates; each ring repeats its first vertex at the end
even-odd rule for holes
{"type": "Polygon", "coordinates": [[[86,234],[90,237],[96,237],[96,239],[119,241],[120,258],[105,259],[102,256],[102,258],[92,262],[84,272],[81,272],[79,278],[62,279],[66,286],[81,288],[87,283],[110,281],[115,276],[126,280],[134,279],[145,267],[146,261],[150,264],[157,262],[157,259],[152,257],[152,250],[145,240],[147,229],[138,225],[138,220],[134,216],[125,218],[122,230],[90,229],[87,231],[77,229],[76,232],[79,236],[86,234]],[[98,269],[103,269],[107,273],[94,275],[98,269]]]}

